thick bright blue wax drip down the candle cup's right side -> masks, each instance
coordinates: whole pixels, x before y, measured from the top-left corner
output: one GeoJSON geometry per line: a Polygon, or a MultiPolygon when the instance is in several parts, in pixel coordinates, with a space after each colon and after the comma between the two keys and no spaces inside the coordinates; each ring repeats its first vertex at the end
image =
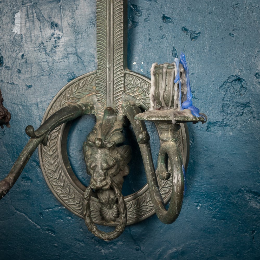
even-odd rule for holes
{"type": "MultiPolygon", "coordinates": [[[[183,108],[188,108],[191,110],[191,113],[196,116],[200,117],[199,115],[199,109],[197,107],[194,107],[192,105],[192,94],[191,94],[191,85],[190,85],[190,77],[189,77],[189,68],[185,59],[185,54],[181,52],[180,54],[180,63],[183,65],[183,68],[186,72],[186,79],[187,79],[187,100],[183,101],[182,107],[183,108]]],[[[175,80],[174,80],[175,82],[175,80]]]]}

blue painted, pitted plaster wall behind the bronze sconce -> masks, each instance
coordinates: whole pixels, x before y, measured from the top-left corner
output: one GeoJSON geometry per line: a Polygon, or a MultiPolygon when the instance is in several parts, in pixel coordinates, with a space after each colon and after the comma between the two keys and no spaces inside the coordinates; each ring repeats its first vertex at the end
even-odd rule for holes
{"type": "MultiPolygon", "coordinates": [[[[23,0],[22,36],[12,33],[14,2],[0,1],[0,88],[12,114],[11,128],[0,132],[0,178],[28,140],[25,127],[39,126],[55,94],[96,68],[95,1],[23,0]]],[[[112,242],[100,241],[55,199],[35,152],[0,201],[0,258],[260,259],[259,15],[257,0],[129,0],[129,68],[149,76],[153,62],[172,62],[184,51],[193,103],[209,116],[204,125],[189,125],[181,214],[171,225],[152,216],[112,242]]],[[[94,124],[86,118],[71,130],[77,147],[68,147],[79,171],[79,133],[94,124]]]]}

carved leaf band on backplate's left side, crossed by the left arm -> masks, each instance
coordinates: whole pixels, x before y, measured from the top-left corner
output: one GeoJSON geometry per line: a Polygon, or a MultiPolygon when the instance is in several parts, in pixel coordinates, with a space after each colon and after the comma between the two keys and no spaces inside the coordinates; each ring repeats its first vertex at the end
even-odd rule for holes
{"type": "MultiPolygon", "coordinates": [[[[54,105],[49,109],[46,118],[68,103],[77,103],[82,97],[93,92],[95,88],[95,78],[96,75],[93,73],[67,87],[64,92],[57,97],[54,105]]],[[[82,215],[82,196],[66,178],[58,159],[58,136],[60,132],[61,126],[50,133],[47,146],[41,145],[42,160],[44,162],[41,166],[47,178],[47,183],[56,193],[55,196],[62,201],[64,205],[69,205],[78,215],[82,215]]]]}

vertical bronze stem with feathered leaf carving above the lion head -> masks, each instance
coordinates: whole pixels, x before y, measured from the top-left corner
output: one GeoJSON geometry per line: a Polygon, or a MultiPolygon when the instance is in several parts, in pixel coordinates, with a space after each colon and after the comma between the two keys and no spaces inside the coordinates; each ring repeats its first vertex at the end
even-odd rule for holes
{"type": "MultiPolygon", "coordinates": [[[[122,115],[124,1],[97,0],[97,101],[122,115]],[[113,8],[110,8],[113,5],[113,8]]],[[[99,114],[100,111],[97,111],[99,114]]]]}

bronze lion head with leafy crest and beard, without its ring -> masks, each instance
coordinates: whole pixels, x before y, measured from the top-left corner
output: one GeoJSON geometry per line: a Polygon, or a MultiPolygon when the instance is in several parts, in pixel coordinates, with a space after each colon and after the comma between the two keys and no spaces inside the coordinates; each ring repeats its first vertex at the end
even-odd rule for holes
{"type": "Polygon", "coordinates": [[[122,130],[122,123],[116,120],[114,110],[108,107],[102,123],[96,123],[83,144],[87,173],[91,176],[90,186],[96,190],[102,204],[101,217],[108,222],[119,216],[117,197],[111,184],[121,190],[123,177],[129,173],[127,164],[131,159],[131,147],[118,147],[125,140],[122,130]]]}

